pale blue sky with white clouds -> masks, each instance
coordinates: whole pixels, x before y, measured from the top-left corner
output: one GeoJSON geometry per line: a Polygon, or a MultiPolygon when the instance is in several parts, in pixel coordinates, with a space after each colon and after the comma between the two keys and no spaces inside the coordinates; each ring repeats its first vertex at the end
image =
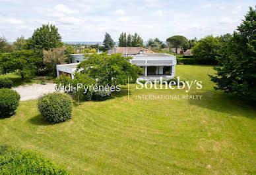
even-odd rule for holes
{"type": "Polygon", "coordinates": [[[137,32],[144,41],[174,35],[188,39],[232,33],[255,1],[167,0],[0,0],[0,36],[31,37],[42,24],[54,24],[62,41],[118,41],[137,32]]]}

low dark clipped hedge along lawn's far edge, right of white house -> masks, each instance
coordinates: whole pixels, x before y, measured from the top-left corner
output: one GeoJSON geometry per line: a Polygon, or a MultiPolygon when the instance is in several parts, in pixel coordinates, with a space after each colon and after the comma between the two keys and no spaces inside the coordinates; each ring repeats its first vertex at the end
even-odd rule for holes
{"type": "Polygon", "coordinates": [[[177,59],[177,64],[208,64],[208,65],[216,65],[218,62],[214,59],[185,59],[179,58],[177,59]]]}

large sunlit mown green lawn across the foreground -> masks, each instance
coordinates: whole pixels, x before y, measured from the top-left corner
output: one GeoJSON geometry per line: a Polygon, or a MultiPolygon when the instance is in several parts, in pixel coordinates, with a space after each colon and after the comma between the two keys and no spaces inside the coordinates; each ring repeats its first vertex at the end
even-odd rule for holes
{"type": "Polygon", "coordinates": [[[182,80],[201,80],[201,100],[138,100],[185,95],[184,89],[135,89],[103,102],[83,102],[73,118],[48,124],[36,101],[0,120],[0,145],[42,153],[73,174],[255,174],[256,111],[215,91],[212,66],[178,65],[182,80]]]}

